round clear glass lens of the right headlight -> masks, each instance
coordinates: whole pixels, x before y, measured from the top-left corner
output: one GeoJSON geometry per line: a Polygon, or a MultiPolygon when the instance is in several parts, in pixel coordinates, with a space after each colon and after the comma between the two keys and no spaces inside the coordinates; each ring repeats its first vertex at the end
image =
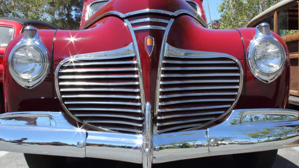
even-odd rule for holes
{"type": "Polygon", "coordinates": [[[283,50],[277,43],[270,40],[261,42],[254,51],[255,65],[266,74],[279,70],[283,65],[283,60],[283,50]]]}

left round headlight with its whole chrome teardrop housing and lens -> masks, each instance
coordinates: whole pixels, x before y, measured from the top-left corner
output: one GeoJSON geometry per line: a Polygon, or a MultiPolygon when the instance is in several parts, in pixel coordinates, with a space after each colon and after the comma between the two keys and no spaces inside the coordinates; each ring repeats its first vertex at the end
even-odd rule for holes
{"type": "Polygon", "coordinates": [[[28,89],[39,85],[47,76],[50,69],[49,52],[40,40],[38,30],[33,26],[24,28],[24,36],[10,51],[8,67],[13,79],[28,89]],[[26,49],[34,51],[35,53],[33,54],[35,55],[39,54],[39,57],[34,57],[32,52],[30,53],[29,51],[27,53],[22,52],[26,51],[26,49]],[[16,55],[18,60],[14,58],[16,55]],[[16,67],[16,62],[18,63],[18,67],[16,67]],[[25,77],[18,74],[18,72],[28,75],[25,77]]]}

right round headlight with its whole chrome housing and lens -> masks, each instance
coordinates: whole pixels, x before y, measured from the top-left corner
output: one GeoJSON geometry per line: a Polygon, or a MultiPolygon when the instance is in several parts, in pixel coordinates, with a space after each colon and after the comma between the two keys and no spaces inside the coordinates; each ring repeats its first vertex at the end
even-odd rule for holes
{"type": "MultiPolygon", "coordinates": [[[[263,24],[265,25],[265,23],[263,24]]],[[[267,26],[265,29],[269,29],[267,26]]],[[[270,83],[283,71],[286,52],[278,40],[270,33],[263,34],[257,26],[256,35],[248,48],[249,68],[259,80],[270,83]]]]}

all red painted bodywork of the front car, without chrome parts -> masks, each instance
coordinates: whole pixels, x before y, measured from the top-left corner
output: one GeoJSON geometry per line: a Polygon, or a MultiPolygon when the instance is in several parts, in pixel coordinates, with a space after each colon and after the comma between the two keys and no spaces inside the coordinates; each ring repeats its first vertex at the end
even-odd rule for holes
{"type": "MultiPolygon", "coordinates": [[[[155,9],[169,12],[177,10],[193,10],[184,0],[110,0],[102,8],[97,10],[90,18],[86,18],[86,6],[90,0],[84,2],[83,17],[80,29],[86,30],[40,30],[39,35],[51,54],[53,51],[53,66],[45,81],[35,88],[26,89],[17,84],[11,77],[7,60],[12,47],[21,36],[10,42],[4,56],[4,92],[6,100],[6,112],[18,111],[63,111],[57,98],[54,87],[53,75],[56,67],[63,59],[77,54],[86,54],[100,51],[109,51],[129,45],[132,36],[122,18],[111,13],[109,16],[98,16],[109,11],[117,11],[125,14],[137,10],[155,9]],[[55,36],[54,36],[55,35],[55,36]],[[54,39],[54,43],[53,43],[54,39]],[[36,103],[39,105],[36,106],[36,103]],[[35,106],[33,107],[34,104],[35,106]],[[54,106],[53,106],[54,105],[54,106]]],[[[197,2],[202,2],[198,0],[197,2]]],[[[200,5],[199,5],[200,6],[200,5]]],[[[203,9],[202,9],[203,10],[203,9]]],[[[160,18],[170,20],[170,16],[157,13],[142,13],[140,15],[127,16],[125,19],[135,20],[142,18],[160,18]]],[[[229,54],[237,58],[244,71],[243,88],[240,99],[234,109],[255,108],[287,108],[289,96],[289,56],[286,44],[274,35],[283,44],[287,58],[283,73],[271,83],[263,83],[258,80],[248,68],[247,48],[255,35],[254,28],[239,30],[210,30],[187,14],[172,16],[175,21],[168,33],[167,43],[176,48],[219,52],[229,54]],[[239,33],[240,32],[240,33],[239,33]],[[244,46],[244,47],[243,47],[244,46]],[[245,53],[244,53],[245,51],[245,53]],[[245,58],[245,59],[244,59],[245,58]]],[[[204,17],[205,18],[205,17],[204,17]]],[[[205,19],[206,22],[206,19],[205,19]]],[[[143,22],[132,24],[132,27],[142,25],[166,26],[161,22],[143,22]]],[[[145,102],[156,103],[156,82],[158,63],[161,52],[164,30],[144,29],[134,31],[141,61],[145,102]],[[152,36],[155,39],[155,48],[149,57],[144,46],[145,37],[152,36]]],[[[273,33],[274,34],[274,33],[273,33]]],[[[66,113],[66,117],[71,117],[66,113]]],[[[213,125],[222,121],[216,120],[213,125]]]]}

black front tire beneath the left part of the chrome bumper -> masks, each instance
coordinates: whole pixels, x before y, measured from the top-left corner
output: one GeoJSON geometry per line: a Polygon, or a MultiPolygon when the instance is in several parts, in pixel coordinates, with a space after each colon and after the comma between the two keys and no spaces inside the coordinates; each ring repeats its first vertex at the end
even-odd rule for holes
{"type": "Polygon", "coordinates": [[[66,157],[24,153],[29,168],[64,167],[66,157]]]}

